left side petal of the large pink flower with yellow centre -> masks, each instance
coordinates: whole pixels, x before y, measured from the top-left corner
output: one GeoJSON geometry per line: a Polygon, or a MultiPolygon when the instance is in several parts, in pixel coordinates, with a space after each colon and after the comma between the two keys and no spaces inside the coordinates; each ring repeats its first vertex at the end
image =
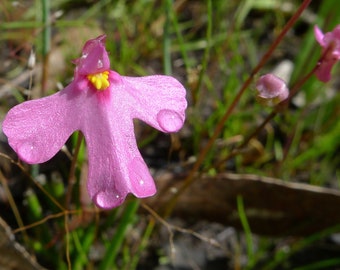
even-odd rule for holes
{"type": "Polygon", "coordinates": [[[2,126],[11,147],[27,163],[53,157],[77,128],[78,116],[69,99],[73,84],[49,97],[23,102],[12,108],[2,126]]]}

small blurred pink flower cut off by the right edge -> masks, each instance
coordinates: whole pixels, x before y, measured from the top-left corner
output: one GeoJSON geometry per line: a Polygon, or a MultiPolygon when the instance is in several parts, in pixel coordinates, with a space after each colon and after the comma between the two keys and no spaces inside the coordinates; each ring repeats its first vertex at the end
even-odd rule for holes
{"type": "Polygon", "coordinates": [[[315,75],[320,81],[328,82],[331,79],[333,65],[340,60],[340,25],[326,34],[323,34],[317,26],[314,26],[314,35],[323,52],[325,53],[327,50],[315,75]]]}

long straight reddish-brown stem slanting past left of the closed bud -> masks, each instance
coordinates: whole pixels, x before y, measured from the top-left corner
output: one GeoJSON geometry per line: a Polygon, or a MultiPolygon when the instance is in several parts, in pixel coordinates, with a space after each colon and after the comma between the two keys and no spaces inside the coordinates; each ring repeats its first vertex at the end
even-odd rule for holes
{"type": "Polygon", "coordinates": [[[287,22],[287,24],[285,25],[285,27],[282,29],[281,33],[279,34],[279,36],[275,39],[275,41],[273,42],[273,44],[269,47],[268,51],[266,52],[266,54],[261,58],[260,62],[257,64],[257,66],[253,69],[253,71],[251,72],[250,76],[248,77],[248,79],[244,82],[244,84],[242,85],[241,89],[239,90],[238,94],[236,95],[236,97],[234,98],[233,102],[231,103],[230,107],[228,108],[228,110],[225,112],[225,114],[222,116],[221,120],[217,123],[217,126],[214,130],[214,133],[212,135],[212,137],[209,139],[208,143],[206,144],[206,146],[202,149],[202,151],[200,152],[197,161],[195,162],[195,164],[193,165],[193,168],[191,169],[191,171],[189,172],[189,175],[186,177],[186,179],[184,180],[183,185],[179,188],[179,190],[177,191],[176,194],[174,194],[174,196],[170,199],[167,208],[165,210],[164,215],[168,216],[170,215],[170,213],[172,212],[175,204],[176,204],[176,200],[177,198],[191,185],[191,183],[194,181],[194,176],[195,174],[198,172],[200,166],[202,165],[207,153],[210,151],[210,149],[212,148],[215,140],[218,138],[218,136],[221,134],[224,124],[227,121],[227,119],[229,118],[229,116],[231,115],[231,113],[233,112],[233,110],[235,109],[236,105],[238,104],[239,100],[241,99],[241,96],[243,95],[243,93],[245,92],[245,90],[248,88],[248,86],[250,85],[253,77],[255,76],[256,73],[258,73],[258,71],[264,66],[264,64],[268,61],[268,59],[270,58],[270,56],[272,55],[272,53],[274,52],[274,50],[276,49],[276,47],[280,44],[280,42],[282,41],[282,39],[284,38],[284,36],[286,35],[286,33],[289,31],[289,29],[292,28],[292,26],[295,24],[295,22],[299,19],[301,13],[309,6],[311,0],[304,0],[303,3],[301,4],[301,6],[299,7],[299,9],[296,11],[296,13],[291,17],[291,19],[287,22]]]}

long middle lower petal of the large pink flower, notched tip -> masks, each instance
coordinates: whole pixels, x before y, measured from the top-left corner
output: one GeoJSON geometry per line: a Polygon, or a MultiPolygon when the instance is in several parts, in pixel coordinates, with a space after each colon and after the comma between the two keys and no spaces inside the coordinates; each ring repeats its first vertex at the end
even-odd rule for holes
{"type": "Polygon", "coordinates": [[[122,90],[117,83],[105,102],[88,101],[87,121],[81,127],[89,157],[88,191],[95,204],[104,209],[120,205],[128,193],[141,198],[156,192],[126,111],[130,97],[122,90]]]}

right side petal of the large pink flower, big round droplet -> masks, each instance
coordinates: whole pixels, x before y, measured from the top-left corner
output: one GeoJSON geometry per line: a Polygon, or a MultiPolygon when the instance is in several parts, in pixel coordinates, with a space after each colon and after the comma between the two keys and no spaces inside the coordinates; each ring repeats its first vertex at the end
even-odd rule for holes
{"type": "Polygon", "coordinates": [[[132,117],[163,132],[176,132],[184,123],[186,91],[175,78],[163,75],[122,76],[125,91],[132,97],[132,117]]]}

